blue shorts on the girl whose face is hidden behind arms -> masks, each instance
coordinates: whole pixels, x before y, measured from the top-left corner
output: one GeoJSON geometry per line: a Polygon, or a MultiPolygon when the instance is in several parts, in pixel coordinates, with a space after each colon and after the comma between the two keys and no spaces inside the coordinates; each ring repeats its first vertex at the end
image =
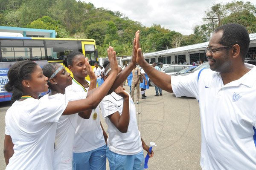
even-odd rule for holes
{"type": "Polygon", "coordinates": [[[110,170],[143,170],[144,155],[143,151],[136,155],[120,155],[113,153],[107,147],[107,157],[110,170]]]}

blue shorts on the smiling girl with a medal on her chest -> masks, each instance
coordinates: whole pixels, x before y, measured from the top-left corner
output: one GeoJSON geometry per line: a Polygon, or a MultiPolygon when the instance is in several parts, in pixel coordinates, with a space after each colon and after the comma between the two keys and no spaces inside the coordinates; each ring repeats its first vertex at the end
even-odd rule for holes
{"type": "Polygon", "coordinates": [[[73,153],[73,170],[106,170],[106,148],[99,147],[84,153],[73,153]]]}

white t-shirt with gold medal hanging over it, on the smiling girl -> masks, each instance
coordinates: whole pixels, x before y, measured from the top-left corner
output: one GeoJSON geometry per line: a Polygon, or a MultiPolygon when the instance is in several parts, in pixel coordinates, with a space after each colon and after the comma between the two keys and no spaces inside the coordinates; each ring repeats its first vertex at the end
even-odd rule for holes
{"type": "MultiPolygon", "coordinates": [[[[86,90],[88,89],[89,88],[87,88],[86,90]]],[[[67,88],[65,89],[67,100],[71,101],[72,95],[74,95],[75,92],[87,94],[87,92],[85,92],[79,84],[73,81],[73,84],[67,86],[67,88]]],[[[103,131],[100,126],[99,114],[100,112],[98,106],[96,109],[93,109],[89,119],[84,119],[78,116],[73,145],[74,153],[88,152],[102,147],[106,144],[103,136],[103,131]],[[96,114],[94,114],[95,112],[96,114]],[[97,117],[93,115],[97,115],[97,117]]]]}

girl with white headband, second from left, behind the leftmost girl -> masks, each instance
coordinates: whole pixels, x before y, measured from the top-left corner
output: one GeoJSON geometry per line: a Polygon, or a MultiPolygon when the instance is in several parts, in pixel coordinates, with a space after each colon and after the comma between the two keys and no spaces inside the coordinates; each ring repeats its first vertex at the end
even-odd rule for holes
{"type": "MultiPolygon", "coordinates": [[[[83,58],[85,59],[85,58],[83,58]]],[[[85,62],[85,60],[84,60],[85,62]]],[[[90,79],[96,79],[90,65],[88,66],[88,74],[90,79]]],[[[48,85],[50,93],[46,95],[49,99],[59,98],[59,96],[64,95],[65,88],[72,84],[72,78],[70,73],[66,71],[64,66],[59,63],[49,63],[43,67],[43,74],[49,78],[48,85]],[[54,72],[59,72],[52,77],[54,72]],[[52,78],[51,78],[52,77],[52,78]]],[[[96,80],[94,85],[96,84],[96,80]]],[[[95,88],[94,85],[93,88],[95,88]]],[[[77,92],[71,98],[73,100],[79,100],[86,98],[87,93],[77,92]]],[[[67,96],[65,95],[66,101],[67,96]]],[[[86,110],[80,112],[79,116],[82,118],[90,116],[91,110],[86,110]]],[[[57,131],[55,136],[55,147],[54,147],[54,157],[53,157],[53,169],[54,170],[72,170],[72,160],[73,160],[73,141],[76,132],[78,114],[73,115],[62,115],[57,123],[57,131]]]]}

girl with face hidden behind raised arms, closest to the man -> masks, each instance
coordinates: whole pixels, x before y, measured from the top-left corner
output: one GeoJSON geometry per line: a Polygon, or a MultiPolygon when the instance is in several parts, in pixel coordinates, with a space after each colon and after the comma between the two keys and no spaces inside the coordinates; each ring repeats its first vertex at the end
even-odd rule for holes
{"type": "MultiPolygon", "coordinates": [[[[122,68],[119,67],[119,72],[122,68]]],[[[105,67],[105,80],[112,74],[109,65],[105,67]]],[[[108,157],[111,170],[143,170],[143,149],[149,153],[149,147],[140,137],[137,127],[136,110],[134,102],[128,92],[124,91],[121,84],[110,95],[105,96],[100,102],[103,118],[108,124],[108,157]]]]}

